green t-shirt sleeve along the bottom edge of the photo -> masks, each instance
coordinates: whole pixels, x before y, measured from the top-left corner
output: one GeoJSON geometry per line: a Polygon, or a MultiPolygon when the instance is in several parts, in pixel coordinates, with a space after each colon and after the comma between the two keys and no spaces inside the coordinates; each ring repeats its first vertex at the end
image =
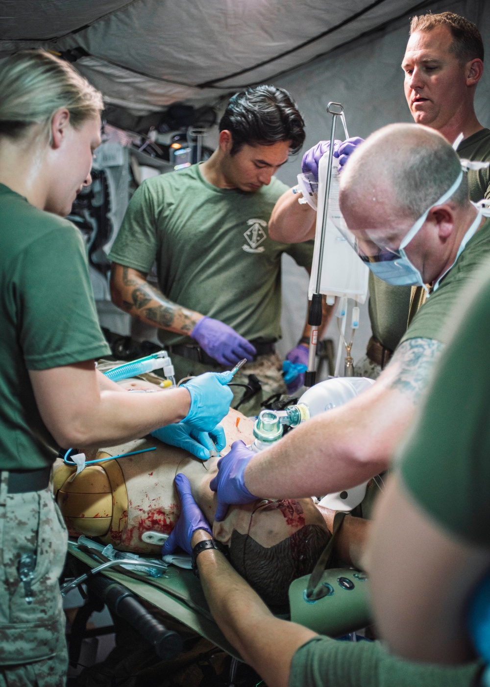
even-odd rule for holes
{"type": "Polygon", "coordinates": [[[393,656],[380,642],[312,638],[292,657],[290,687],[474,687],[482,663],[439,666],[393,656]]]}

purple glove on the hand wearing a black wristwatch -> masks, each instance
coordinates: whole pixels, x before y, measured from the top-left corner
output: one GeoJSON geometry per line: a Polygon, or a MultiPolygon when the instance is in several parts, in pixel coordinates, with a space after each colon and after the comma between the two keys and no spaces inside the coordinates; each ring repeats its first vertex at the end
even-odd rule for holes
{"type": "Polygon", "coordinates": [[[175,477],[175,486],[180,497],[180,515],[174,529],[170,532],[170,537],[162,546],[162,556],[174,553],[178,546],[188,554],[192,554],[191,537],[196,530],[206,530],[209,534],[213,534],[209,522],[194,501],[187,477],[178,473],[175,477]]]}

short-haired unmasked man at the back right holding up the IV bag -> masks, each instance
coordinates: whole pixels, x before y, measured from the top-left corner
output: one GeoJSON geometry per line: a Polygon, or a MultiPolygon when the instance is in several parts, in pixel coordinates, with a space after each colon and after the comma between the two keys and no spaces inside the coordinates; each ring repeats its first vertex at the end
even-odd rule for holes
{"type": "MultiPolygon", "coordinates": [[[[405,96],[417,124],[439,131],[450,143],[460,133],[464,139],[458,155],[471,161],[490,160],[490,130],[476,117],[474,97],[483,73],[484,49],[478,28],[453,12],[414,16],[410,38],[401,64],[405,74],[405,96]]],[[[362,139],[355,137],[336,146],[342,168],[362,139]]],[[[314,171],[328,150],[320,142],[305,153],[303,172],[314,171]]],[[[489,168],[469,169],[471,201],[490,198],[489,168]]],[[[270,219],[270,235],[276,240],[303,241],[314,236],[315,214],[309,205],[299,205],[291,191],[279,199],[270,219]]],[[[360,376],[376,379],[390,361],[406,332],[411,317],[425,300],[423,289],[392,286],[369,277],[369,318],[373,337],[366,355],[355,365],[360,376]]]]}

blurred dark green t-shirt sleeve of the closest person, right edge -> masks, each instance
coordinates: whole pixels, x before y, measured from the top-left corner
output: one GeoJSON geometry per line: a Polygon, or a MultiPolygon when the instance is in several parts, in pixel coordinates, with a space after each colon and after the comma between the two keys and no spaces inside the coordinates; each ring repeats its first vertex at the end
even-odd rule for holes
{"type": "Polygon", "coordinates": [[[441,357],[399,465],[406,488],[425,511],[450,532],[485,546],[490,544],[489,273],[487,260],[463,293],[465,317],[441,357]]]}

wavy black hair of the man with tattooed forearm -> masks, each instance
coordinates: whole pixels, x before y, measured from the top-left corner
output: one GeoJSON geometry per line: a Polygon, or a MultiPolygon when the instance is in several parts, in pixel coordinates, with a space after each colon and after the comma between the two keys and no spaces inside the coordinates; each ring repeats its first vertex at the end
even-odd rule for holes
{"type": "Polygon", "coordinates": [[[272,145],[290,141],[291,153],[305,142],[305,122],[288,91],[275,86],[255,86],[230,98],[220,120],[220,131],[231,131],[231,155],[244,144],[272,145]]]}

